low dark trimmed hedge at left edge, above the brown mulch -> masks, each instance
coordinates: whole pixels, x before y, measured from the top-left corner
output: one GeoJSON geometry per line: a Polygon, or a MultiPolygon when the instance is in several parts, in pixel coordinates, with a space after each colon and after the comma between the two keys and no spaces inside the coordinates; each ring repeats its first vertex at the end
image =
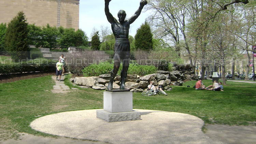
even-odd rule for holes
{"type": "Polygon", "coordinates": [[[27,73],[27,72],[46,72],[46,71],[55,71],[56,69],[55,60],[44,60],[36,59],[26,62],[17,62],[17,63],[0,63],[0,74],[9,75],[16,73],[27,73]]]}

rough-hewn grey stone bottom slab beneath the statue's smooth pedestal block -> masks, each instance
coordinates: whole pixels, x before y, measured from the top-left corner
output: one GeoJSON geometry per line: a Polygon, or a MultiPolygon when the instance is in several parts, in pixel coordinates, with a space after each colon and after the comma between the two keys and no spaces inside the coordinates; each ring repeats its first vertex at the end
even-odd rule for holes
{"type": "Polygon", "coordinates": [[[96,117],[101,118],[108,122],[140,120],[140,112],[132,111],[132,112],[122,112],[122,113],[110,113],[104,110],[97,110],[96,117]]]}

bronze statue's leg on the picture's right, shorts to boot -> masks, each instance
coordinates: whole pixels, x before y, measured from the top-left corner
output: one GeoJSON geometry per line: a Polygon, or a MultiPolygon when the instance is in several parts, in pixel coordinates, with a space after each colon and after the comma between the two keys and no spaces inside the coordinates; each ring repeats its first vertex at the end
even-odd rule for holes
{"type": "Polygon", "coordinates": [[[130,55],[126,54],[124,59],[123,59],[123,68],[122,68],[122,71],[121,71],[120,89],[128,89],[125,86],[125,80],[126,80],[126,77],[127,77],[129,64],[130,64],[130,55]]]}

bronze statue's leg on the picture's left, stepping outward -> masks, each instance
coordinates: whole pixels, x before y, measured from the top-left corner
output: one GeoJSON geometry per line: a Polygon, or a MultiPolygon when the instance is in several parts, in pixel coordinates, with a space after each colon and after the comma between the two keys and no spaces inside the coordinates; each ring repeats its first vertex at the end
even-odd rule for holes
{"type": "Polygon", "coordinates": [[[114,78],[115,78],[115,76],[117,74],[117,71],[120,67],[120,62],[121,62],[120,56],[115,55],[114,56],[114,69],[111,71],[111,74],[110,74],[110,81],[109,81],[109,84],[108,84],[108,87],[107,87],[108,90],[113,89],[113,81],[114,81],[114,78]]]}

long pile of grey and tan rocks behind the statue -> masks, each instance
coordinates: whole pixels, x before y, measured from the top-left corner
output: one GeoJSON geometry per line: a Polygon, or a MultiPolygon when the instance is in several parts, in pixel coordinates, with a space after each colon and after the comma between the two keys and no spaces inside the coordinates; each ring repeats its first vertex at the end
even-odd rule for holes
{"type": "MultiPolygon", "coordinates": [[[[110,74],[102,74],[99,76],[89,77],[75,77],[70,81],[77,85],[93,88],[93,89],[105,89],[108,86],[110,80],[110,74]]],[[[139,76],[136,74],[128,74],[125,85],[131,89],[132,92],[142,92],[147,89],[150,81],[153,81],[153,85],[163,86],[165,90],[171,90],[171,86],[182,86],[184,80],[198,80],[198,75],[195,71],[192,71],[190,65],[176,65],[174,71],[157,71],[157,73],[149,74],[145,76],[139,76]]],[[[117,75],[114,78],[113,89],[119,89],[120,76],[117,75]]]]}

